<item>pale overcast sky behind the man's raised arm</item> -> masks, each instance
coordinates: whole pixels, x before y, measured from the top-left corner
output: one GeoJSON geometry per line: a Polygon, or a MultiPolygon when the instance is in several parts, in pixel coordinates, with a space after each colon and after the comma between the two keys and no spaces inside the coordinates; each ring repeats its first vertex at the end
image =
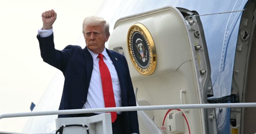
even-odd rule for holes
{"type": "MultiPolygon", "coordinates": [[[[74,44],[82,34],[84,17],[94,15],[103,0],[1,0],[0,1],[0,115],[30,112],[57,69],[40,57],[37,29],[41,13],[54,9],[55,48],[74,44]]],[[[21,132],[27,117],[0,120],[0,131],[21,132]]]]}

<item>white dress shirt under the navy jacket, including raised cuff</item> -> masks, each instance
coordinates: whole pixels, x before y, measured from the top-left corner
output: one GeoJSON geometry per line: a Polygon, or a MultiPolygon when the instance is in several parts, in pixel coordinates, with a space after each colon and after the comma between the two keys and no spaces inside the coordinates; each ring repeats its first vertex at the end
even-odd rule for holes
{"type": "MultiPolygon", "coordinates": [[[[40,37],[49,37],[53,33],[53,28],[49,30],[38,30],[38,35],[40,37]]],[[[89,49],[88,49],[89,50],[89,49]]],[[[93,59],[93,70],[91,74],[91,81],[88,89],[87,94],[87,101],[82,108],[104,108],[104,98],[102,92],[102,82],[100,76],[100,69],[99,69],[99,58],[97,58],[98,54],[95,54],[89,50],[92,59],[93,59]]],[[[118,79],[118,74],[115,69],[115,66],[110,59],[109,55],[107,54],[106,48],[102,52],[103,60],[106,63],[112,80],[112,86],[114,91],[114,97],[116,102],[116,107],[122,107],[122,96],[121,96],[121,87],[118,79]]],[[[99,114],[104,112],[97,112],[99,114]]],[[[120,114],[121,112],[117,112],[120,114]]]]}

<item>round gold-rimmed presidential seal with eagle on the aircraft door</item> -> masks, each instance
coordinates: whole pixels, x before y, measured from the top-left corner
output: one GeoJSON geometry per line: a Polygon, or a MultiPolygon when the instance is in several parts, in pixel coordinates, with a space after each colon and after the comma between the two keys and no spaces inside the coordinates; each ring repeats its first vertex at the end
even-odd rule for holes
{"type": "Polygon", "coordinates": [[[143,75],[152,74],[156,68],[156,50],[148,29],[141,23],[132,25],[128,30],[127,44],[136,70],[143,75]]]}

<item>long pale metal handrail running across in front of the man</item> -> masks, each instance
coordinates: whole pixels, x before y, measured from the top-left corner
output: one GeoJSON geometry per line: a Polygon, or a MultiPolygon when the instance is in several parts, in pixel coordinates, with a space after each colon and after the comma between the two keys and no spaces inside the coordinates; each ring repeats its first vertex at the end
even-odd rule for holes
{"type": "Polygon", "coordinates": [[[92,113],[92,112],[223,108],[223,107],[256,107],[256,103],[183,104],[183,105],[157,105],[157,106],[108,107],[108,108],[72,109],[72,110],[56,110],[56,111],[36,111],[36,112],[2,114],[0,115],[0,119],[12,118],[12,117],[79,114],[79,113],[92,113]]]}

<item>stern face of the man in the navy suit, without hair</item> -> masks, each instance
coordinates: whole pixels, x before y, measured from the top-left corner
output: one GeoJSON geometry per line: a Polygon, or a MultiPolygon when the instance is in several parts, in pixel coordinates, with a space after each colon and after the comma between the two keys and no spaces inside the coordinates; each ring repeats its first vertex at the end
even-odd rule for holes
{"type": "Polygon", "coordinates": [[[85,42],[86,47],[93,53],[100,54],[105,48],[105,42],[108,40],[108,35],[104,31],[104,25],[87,25],[85,27],[85,42]]]}

